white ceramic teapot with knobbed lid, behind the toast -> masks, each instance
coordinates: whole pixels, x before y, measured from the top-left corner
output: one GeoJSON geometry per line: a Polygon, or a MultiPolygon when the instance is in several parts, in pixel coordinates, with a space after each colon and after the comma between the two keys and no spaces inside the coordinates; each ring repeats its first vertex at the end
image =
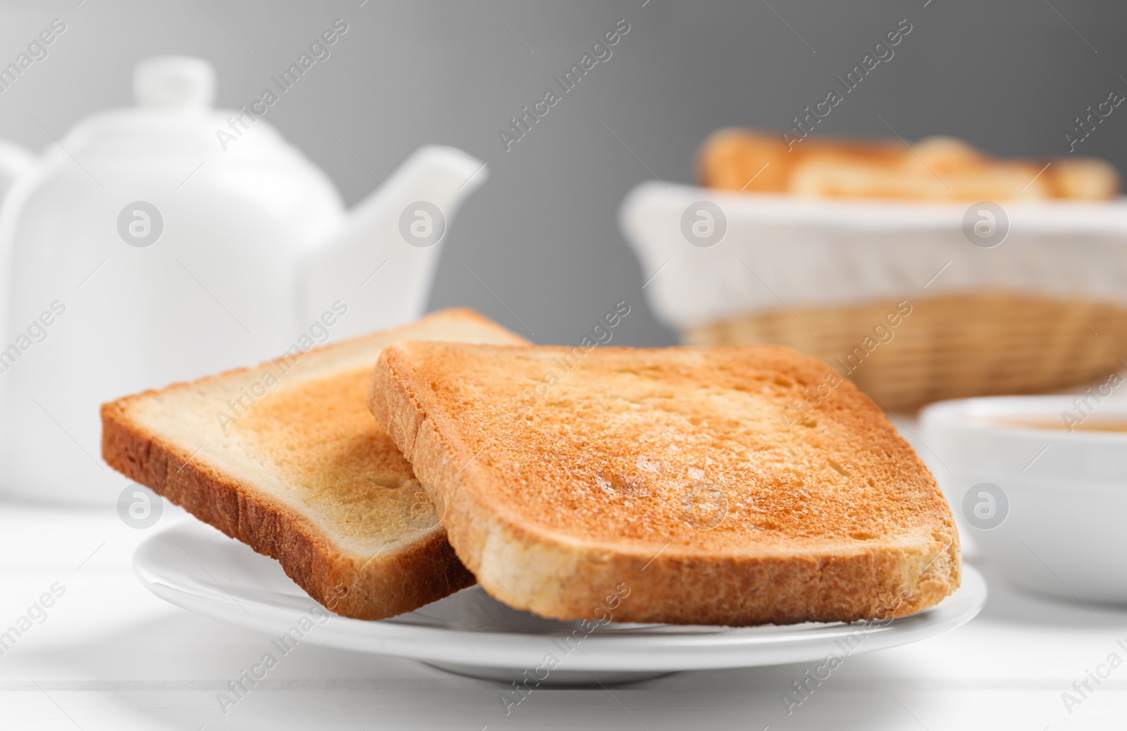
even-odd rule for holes
{"type": "Polygon", "coordinates": [[[101,402],[423,313],[483,163],[423,148],[346,213],[266,105],[213,90],[203,61],[143,61],[135,108],[81,122],[6,197],[0,490],[113,501],[101,402]]]}

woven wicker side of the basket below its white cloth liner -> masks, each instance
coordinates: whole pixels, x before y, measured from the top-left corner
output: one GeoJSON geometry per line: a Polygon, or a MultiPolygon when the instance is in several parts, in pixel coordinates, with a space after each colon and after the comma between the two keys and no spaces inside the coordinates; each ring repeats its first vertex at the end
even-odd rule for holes
{"type": "Polygon", "coordinates": [[[682,338],[693,345],[790,346],[848,375],[888,411],[1059,390],[1127,366],[1127,307],[1117,304],[1008,292],[909,304],[911,313],[888,328],[893,338],[882,331],[887,341],[871,351],[862,342],[878,342],[873,328],[895,303],[763,312],[690,328],[682,338]]]}

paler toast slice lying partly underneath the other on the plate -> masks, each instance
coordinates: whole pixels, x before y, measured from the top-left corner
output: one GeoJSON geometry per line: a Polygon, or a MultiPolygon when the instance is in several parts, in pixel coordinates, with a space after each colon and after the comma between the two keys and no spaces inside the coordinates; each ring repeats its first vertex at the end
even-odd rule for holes
{"type": "Polygon", "coordinates": [[[434,506],[365,409],[403,338],[525,342],[469,310],[101,407],[101,453],[204,523],[277,559],[337,614],[379,619],[473,583],[434,506]]]}

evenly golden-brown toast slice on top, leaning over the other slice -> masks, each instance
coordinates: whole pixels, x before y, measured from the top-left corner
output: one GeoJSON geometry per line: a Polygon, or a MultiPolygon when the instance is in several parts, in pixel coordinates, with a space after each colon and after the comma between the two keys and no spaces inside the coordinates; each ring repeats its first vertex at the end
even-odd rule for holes
{"type": "Polygon", "coordinates": [[[931,473],[788,348],[401,342],[370,407],[480,585],[540,615],[849,622],[959,586],[931,473]]]}

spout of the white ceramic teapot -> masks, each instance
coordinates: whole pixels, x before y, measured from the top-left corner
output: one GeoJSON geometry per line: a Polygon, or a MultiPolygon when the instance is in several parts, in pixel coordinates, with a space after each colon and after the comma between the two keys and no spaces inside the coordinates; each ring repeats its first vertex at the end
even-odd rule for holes
{"type": "Polygon", "coordinates": [[[450,223],[487,177],[482,161],[455,148],[416,150],[301,267],[299,328],[345,311],[336,340],[421,317],[450,223]]]}

